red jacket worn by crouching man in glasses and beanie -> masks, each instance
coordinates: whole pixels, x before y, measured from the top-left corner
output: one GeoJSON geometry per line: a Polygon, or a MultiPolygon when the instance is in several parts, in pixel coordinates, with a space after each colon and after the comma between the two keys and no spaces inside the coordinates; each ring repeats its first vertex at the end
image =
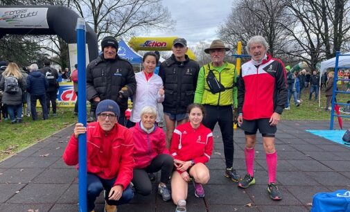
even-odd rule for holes
{"type": "MultiPolygon", "coordinates": [[[[134,168],[134,141],[128,128],[116,123],[107,134],[98,122],[87,126],[87,173],[103,179],[116,177],[116,185],[125,189],[131,182],[134,168]]],[[[71,136],[62,156],[69,166],[78,164],[78,139],[71,136]]]]}

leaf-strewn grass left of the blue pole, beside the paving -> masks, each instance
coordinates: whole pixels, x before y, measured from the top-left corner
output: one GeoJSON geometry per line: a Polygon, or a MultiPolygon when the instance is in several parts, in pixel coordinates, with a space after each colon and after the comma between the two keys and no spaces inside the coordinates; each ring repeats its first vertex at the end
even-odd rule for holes
{"type": "Polygon", "coordinates": [[[11,124],[9,120],[2,119],[0,123],[0,161],[78,120],[76,116],[73,116],[73,107],[59,107],[58,116],[49,116],[49,119],[45,121],[42,120],[41,108],[38,108],[37,112],[39,112],[38,121],[24,116],[22,123],[11,124]]]}

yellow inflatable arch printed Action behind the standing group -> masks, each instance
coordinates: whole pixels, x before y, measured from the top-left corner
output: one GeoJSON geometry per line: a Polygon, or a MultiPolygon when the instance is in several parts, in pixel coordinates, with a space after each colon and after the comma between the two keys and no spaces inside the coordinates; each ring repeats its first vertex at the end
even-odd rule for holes
{"type": "MultiPolygon", "coordinates": [[[[134,51],[170,51],[174,39],[177,37],[132,37],[128,45],[134,51]]],[[[187,51],[186,55],[195,60],[195,54],[191,49],[187,51]]]]}

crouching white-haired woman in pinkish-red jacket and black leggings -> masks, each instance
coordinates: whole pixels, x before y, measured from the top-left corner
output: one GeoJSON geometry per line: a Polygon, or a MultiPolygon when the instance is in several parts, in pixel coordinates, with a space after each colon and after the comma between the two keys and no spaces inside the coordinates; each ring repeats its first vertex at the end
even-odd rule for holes
{"type": "Polygon", "coordinates": [[[170,191],[166,187],[173,172],[173,157],[166,149],[166,136],[163,130],[155,124],[157,110],[146,106],[141,109],[141,121],[130,128],[134,138],[134,178],[132,184],[137,193],[149,195],[152,183],[148,173],[161,170],[158,193],[164,201],[171,199],[170,191]]]}

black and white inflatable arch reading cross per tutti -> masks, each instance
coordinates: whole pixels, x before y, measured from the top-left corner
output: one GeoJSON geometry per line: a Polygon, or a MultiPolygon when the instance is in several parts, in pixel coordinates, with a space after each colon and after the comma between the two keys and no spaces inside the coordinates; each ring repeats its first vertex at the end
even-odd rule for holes
{"type": "MultiPolygon", "coordinates": [[[[76,21],[79,16],[69,8],[63,6],[16,5],[0,6],[0,9],[2,9],[0,10],[0,39],[6,34],[58,35],[68,44],[76,43],[76,21]],[[38,8],[38,10],[36,11],[35,8],[38,8]],[[41,17],[40,19],[40,15],[45,14],[43,12],[45,8],[47,9],[46,20],[45,17],[41,17]],[[31,26],[30,23],[25,22],[26,18],[34,16],[37,16],[42,21],[40,23],[44,23],[44,26],[40,26],[40,24],[33,24],[31,26]]],[[[89,49],[89,60],[91,62],[98,57],[98,44],[97,35],[89,24],[86,24],[86,42],[89,49]]]]}

